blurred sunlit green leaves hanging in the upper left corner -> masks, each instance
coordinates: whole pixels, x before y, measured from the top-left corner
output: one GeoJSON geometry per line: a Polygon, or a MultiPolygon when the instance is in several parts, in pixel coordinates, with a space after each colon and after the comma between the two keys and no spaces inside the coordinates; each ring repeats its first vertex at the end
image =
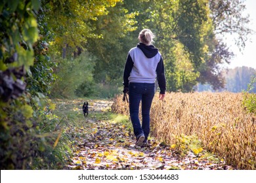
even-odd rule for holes
{"type": "Polygon", "coordinates": [[[33,10],[36,11],[38,5],[39,1],[1,1],[1,71],[22,65],[28,69],[33,65],[33,43],[38,38],[33,10]]]}

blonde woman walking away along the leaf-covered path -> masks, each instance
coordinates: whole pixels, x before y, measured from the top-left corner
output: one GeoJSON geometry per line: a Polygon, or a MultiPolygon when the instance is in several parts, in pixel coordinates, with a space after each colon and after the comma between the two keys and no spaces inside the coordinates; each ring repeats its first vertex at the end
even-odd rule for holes
{"type": "Polygon", "coordinates": [[[160,87],[159,99],[165,97],[165,72],[163,58],[154,42],[150,29],[139,33],[139,44],[127,56],[123,72],[123,93],[129,92],[130,118],[137,146],[145,146],[150,133],[150,108],[155,93],[155,82],[160,87]],[[139,120],[139,105],[142,102],[142,125],[139,120]]]}

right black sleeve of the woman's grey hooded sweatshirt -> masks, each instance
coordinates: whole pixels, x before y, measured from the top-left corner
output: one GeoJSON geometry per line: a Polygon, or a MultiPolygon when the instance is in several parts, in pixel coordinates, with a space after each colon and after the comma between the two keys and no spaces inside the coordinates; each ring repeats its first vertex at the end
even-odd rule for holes
{"type": "Polygon", "coordinates": [[[163,58],[160,59],[160,62],[158,63],[158,67],[156,67],[156,76],[158,78],[160,93],[165,94],[166,80],[165,80],[165,68],[163,66],[163,58]]]}

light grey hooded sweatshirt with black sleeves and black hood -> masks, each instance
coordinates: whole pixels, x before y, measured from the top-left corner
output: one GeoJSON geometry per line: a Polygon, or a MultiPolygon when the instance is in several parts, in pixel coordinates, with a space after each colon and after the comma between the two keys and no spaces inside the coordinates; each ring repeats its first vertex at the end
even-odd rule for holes
{"type": "Polygon", "coordinates": [[[130,82],[155,83],[158,79],[160,93],[166,89],[163,58],[154,45],[147,46],[140,42],[137,47],[131,48],[128,53],[125,71],[123,72],[123,85],[129,87],[130,82]]]}

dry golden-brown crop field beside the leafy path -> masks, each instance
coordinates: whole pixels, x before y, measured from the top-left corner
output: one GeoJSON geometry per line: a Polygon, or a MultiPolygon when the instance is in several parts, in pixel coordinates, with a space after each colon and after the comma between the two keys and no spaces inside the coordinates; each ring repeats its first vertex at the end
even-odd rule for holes
{"type": "MultiPolygon", "coordinates": [[[[112,110],[129,116],[123,95],[112,110]]],[[[203,150],[226,159],[237,169],[256,169],[256,122],[242,105],[242,93],[167,93],[155,95],[151,108],[151,135],[167,144],[181,144],[184,135],[196,135],[203,150]]]]}

